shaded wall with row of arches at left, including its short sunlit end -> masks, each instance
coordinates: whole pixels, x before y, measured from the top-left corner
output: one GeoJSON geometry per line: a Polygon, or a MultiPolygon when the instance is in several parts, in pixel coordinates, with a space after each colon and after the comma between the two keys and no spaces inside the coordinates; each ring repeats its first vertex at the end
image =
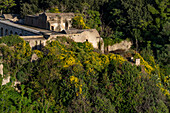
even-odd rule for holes
{"type": "Polygon", "coordinates": [[[38,32],[39,31],[34,31],[33,29],[25,28],[9,21],[0,20],[0,37],[17,34],[25,41],[29,42],[32,49],[40,50],[46,45],[46,40],[44,36],[40,35],[38,32]]]}

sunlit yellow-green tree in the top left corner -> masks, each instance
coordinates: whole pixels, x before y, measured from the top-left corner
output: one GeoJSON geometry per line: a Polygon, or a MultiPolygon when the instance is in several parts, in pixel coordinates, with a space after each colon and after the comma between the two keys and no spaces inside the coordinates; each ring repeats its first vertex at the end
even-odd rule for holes
{"type": "Polygon", "coordinates": [[[3,10],[9,11],[9,9],[12,8],[15,5],[16,4],[15,4],[14,0],[1,0],[0,1],[1,15],[2,15],[3,10]]]}

